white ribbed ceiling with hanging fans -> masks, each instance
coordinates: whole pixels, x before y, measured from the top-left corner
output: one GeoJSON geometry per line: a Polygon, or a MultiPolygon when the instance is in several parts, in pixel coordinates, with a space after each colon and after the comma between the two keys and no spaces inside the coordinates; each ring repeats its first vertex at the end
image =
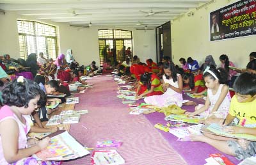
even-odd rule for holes
{"type": "MultiPolygon", "coordinates": [[[[0,9],[53,22],[156,28],[211,0],[0,0],[0,9]],[[159,13],[157,13],[159,12],[159,13]]],[[[91,26],[90,25],[90,26],[91,26]]]]}

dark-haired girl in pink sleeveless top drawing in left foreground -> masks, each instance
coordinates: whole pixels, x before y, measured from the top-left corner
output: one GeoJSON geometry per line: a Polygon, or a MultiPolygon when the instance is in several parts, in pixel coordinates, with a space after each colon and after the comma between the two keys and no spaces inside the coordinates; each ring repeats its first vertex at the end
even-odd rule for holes
{"type": "Polygon", "coordinates": [[[26,136],[30,126],[24,116],[36,109],[39,98],[40,86],[24,77],[18,77],[4,88],[5,106],[0,111],[0,164],[60,164],[30,157],[47,147],[50,141],[45,138],[32,146],[26,136]]]}

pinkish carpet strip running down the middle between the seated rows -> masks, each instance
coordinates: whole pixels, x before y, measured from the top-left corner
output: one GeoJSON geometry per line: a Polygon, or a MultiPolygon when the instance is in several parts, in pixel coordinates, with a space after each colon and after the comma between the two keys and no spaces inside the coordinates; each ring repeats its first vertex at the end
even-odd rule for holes
{"type": "MultiPolygon", "coordinates": [[[[129,114],[128,107],[116,97],[118,85],[112,77],[93,77],[88,83],[94,84],[93,88],[87,88],[85,93],[76,94],[76,97],[79,97],[79,104],[76,104],[75,109],[89,110],[88,114],[81,116],[79,123],[74,123],[70,127],[70,134],[77,141],[88,148],[95,148],[98,140],[120,140],[123,145],[116,150],[125,159],[125,164],[188,164],[144,115],[129,114]]],[[[90,159],[90,155],[87,155],[63,164],[87,165],[90,164],[90,159]]]]}

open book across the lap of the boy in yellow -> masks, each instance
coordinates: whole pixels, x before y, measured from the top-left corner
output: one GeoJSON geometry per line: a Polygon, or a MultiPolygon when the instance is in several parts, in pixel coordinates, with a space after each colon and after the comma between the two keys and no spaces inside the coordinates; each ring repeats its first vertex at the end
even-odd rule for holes
{"type": "Polygon", "coordinates": [[[228,138],[236,138],[236,139],[246,139],[250,141],[256,141],[256,136],[250,135],[250,134],[231,134],[228,132],[225,132],[223,130],[223,127],[216,123],[211,123],[206,130],[204,129],[204,132],[209,132],[210,134],[216,134],[219,136],[225,136],[228,138]],[[207,131],[208,130],[208,131],[207,131]]]}

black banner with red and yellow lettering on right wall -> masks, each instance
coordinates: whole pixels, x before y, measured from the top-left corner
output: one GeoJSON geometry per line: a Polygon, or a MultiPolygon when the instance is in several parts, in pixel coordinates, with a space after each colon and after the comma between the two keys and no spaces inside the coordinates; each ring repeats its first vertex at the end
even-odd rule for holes
{"type": "Polygon", "coordinates": [[[241,0],[210,13],[211,41],[256,35],[256,0],[241,0]]]}

